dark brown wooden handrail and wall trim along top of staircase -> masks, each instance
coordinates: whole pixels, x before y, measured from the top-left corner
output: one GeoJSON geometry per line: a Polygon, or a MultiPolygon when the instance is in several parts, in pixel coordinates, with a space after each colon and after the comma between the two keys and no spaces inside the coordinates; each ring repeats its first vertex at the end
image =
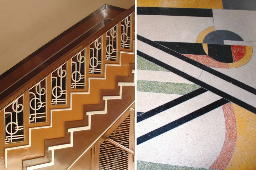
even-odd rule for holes
{"type": "Polygon", "coordinates": [[[104,5],[89,15],[89,18],[83,19],[1,75],[0,109],[109,30],[118,21],[124,19],[134,9],[133,6],[123,12],[122,8],[104,5]],[[96,25],[90,25],[91,21],[96,20],[99,21],[96,25]],[[86,27],[87,24],[89,24],[88,27],[86,27]]]}

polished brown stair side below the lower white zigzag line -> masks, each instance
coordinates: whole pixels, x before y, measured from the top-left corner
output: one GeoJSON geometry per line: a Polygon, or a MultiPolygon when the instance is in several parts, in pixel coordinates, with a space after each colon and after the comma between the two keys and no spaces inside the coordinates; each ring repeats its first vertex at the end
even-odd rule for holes
{"type": "Polygon", "coordinates": [[[108,107],[110,109],[108,110],[107,114],[94,115],[94,117],[92,117],[91,129],[94,129],[94,131],[90,130],[75,132],[73,137],[73,147],[56,150],[54,166],[40,169],[66,169],[75,161],[77,157],[82,155],[83,151],[85,151],[85,149],[94,142],[102,131],[107,129],[111,122],[113,122],[130,103],[134,102],[134,87],[126,86],[123,88],[122,97],[124,98],[121,100],[108,101],[108,107]]]}

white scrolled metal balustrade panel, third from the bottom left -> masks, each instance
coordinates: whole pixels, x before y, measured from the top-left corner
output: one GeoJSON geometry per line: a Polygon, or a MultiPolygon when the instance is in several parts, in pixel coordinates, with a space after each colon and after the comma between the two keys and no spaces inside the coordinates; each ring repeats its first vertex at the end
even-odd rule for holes
{"type": "Polygon", "coordinates": [[[51,73],[51,104],[67,103],[67,63],[51,73]]]}

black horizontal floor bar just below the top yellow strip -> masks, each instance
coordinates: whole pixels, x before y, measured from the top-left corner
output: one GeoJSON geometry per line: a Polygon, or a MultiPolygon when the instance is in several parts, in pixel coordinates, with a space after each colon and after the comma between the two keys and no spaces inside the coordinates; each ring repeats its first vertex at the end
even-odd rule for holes
{"type": "Polygon", "coordinates": [[[137,7],[137,15],[213,17],[213,10],[200,8],[137,7]]]}

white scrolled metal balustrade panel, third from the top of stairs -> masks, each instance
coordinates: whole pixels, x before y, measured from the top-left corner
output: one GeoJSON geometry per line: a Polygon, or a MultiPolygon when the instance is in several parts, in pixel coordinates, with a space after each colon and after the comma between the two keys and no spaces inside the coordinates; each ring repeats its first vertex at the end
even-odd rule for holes
{"type": "Polygon", "coordinates": [[[96,39],[90,44],[90,74],[101,74],[102,73],[102,39],[103,36],[96,39]]]}

